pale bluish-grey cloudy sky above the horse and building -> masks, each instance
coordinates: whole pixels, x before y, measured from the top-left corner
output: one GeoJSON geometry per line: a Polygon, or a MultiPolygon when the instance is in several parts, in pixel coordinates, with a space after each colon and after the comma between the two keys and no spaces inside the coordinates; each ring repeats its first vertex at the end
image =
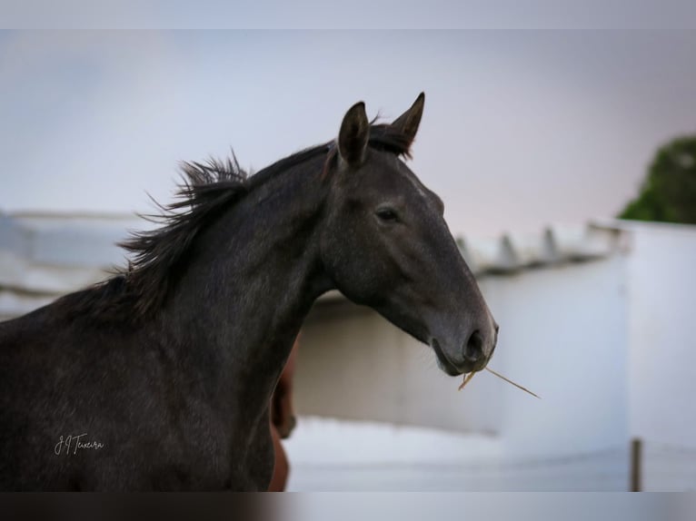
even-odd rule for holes
{"type": "Polygon", "coordinates": [[[256,171],[424,91],[410,167],[455,234],[611,217],[696,133],[696,32],[0,33],[0,211],[153,211],[178,162],[256,171]]]}

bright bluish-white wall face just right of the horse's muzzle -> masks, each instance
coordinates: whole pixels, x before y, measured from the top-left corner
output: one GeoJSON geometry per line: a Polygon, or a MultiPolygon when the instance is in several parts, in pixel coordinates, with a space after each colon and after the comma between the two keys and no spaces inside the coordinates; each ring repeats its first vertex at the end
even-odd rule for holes
{"type": "Polygon", "coordinates": [[[501,324],[491,367],[542,397],[501,382],[501,432],[510,454],[626,443],[624,264],[617,254],[483,282],[501,324]]]}

